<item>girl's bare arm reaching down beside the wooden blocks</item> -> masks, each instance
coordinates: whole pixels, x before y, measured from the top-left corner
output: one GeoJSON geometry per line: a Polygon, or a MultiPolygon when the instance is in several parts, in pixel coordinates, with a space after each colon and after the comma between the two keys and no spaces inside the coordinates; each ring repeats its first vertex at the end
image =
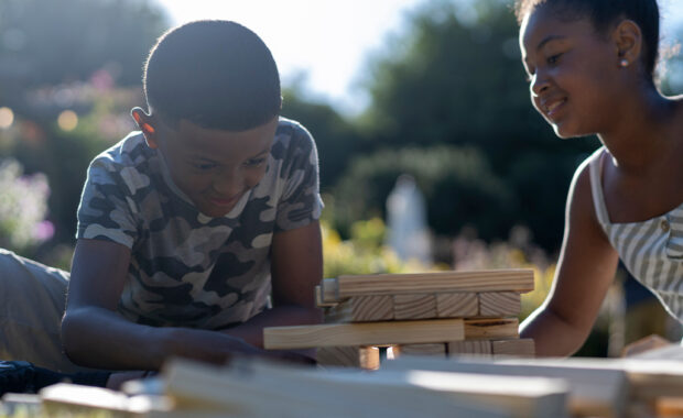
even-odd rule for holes
{"type": "Polygon", "coordinates": [[[539,356],[567,356],[584,343],[614,279],[619,256],[595,213],[588,165],[576,172],[567,199],[562,252],[551,293],[521,326],[539,356]]]}

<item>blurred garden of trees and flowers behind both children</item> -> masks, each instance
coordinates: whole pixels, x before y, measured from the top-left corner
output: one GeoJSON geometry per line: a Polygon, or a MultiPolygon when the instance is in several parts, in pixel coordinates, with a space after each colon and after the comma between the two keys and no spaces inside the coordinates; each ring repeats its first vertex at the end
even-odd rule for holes
{"type": "MultiPolygon", "coordinates": [[[[318,146],[326,276],[528,266],[528,315],[552,279],[572,174],[598,142],[557,140],[532,109],[511,2],[474,4],[467,20],[458,1],[412,10],[367,58],[361,113],[290,82],[282,114],[318,146]],[[424,195],[433,264],[386,245],[386,200],[401,174],[424,195]]],[[[143,0],[0,0],[0,246],[69,268],[88,163],[133,129],[142,63],[170,25],[143,0]]],[[[683,90],[675,74],[662,74],[665,94],[683,90]]],[[[614,354],[619,320],[616,286],[583,353],[614,354]]]]}

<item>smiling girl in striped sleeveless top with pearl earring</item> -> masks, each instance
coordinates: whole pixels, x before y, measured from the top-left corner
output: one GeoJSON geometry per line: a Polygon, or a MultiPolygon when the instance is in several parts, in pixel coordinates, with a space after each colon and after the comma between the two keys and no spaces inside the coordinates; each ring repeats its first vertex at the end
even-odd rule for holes
{"type": "Polygon", "coordinates": [[[574,175],[555,282],[522,336],[575,352],[619,258],[683,321],[683,96],[653,81],[657,1],[517,1],[533,107],[557,136],[603,144],[574,175]]]}

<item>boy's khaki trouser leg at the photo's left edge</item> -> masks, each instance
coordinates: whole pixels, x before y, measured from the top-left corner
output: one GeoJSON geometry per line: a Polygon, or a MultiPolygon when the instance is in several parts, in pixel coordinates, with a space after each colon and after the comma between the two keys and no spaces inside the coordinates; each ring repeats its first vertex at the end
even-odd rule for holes
{"type": "Polygon", "coordinates": [[[0,249],[0,360],[53,371],[89,371],[64,354],[59,328],[68,273],[0,249]]]}

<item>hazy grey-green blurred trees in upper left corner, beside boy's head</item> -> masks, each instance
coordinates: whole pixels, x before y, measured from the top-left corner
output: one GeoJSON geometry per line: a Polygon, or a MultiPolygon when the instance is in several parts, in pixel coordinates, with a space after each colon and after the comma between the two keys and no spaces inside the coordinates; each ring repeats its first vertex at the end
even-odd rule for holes
{"type": "Polygon", "coordinates": [[[108,68],[119,84],[138,84],[141,63],[166,26],[149,1],[0,0],[0,79],[23,89],[86,80],[108,68]]]}

